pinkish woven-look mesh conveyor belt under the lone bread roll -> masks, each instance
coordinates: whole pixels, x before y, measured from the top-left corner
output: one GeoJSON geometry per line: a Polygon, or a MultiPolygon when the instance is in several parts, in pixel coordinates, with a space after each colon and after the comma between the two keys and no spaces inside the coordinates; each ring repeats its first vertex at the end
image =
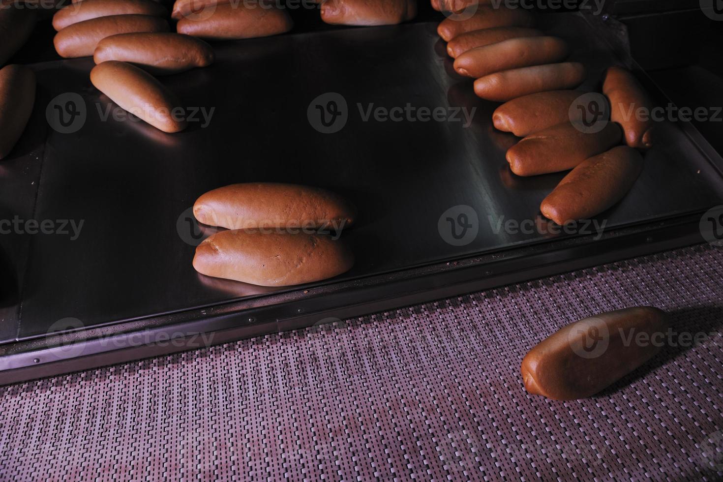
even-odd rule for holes
{"type": "Polygon", "coordinates": [[[0,388],[8,481],[723,480],[723,249],[0,388]],[[525,353],[651,305],[683,337],[602,394],[529,395],[525,353]]]}

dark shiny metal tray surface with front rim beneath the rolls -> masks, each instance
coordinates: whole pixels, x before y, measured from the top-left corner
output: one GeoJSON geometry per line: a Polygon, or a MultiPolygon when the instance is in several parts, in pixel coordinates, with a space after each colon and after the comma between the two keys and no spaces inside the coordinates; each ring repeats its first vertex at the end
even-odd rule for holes
{"type": "MultiPolygon", "coordinates": [[[[599,87],[612,61],[630,63],[625,30],[612,19],[557,14],[544,22],[578,46],[573,59],[590,70],[583,88],[599,87]]],[[[38,103],[14,158],[3,164],[2,214],[83,224],[76,239],[0,238],[7,273],[0,383],[702,241],[701,214],[723,204],[722,162],[690,126],[675,124],[662,126],[662,142],[646,155],[633,191],[596,218],[605,223],[602,233],[585,225],[551,233],[539,203],[563,174],[510,173],[505,150],[516,139],[492,128],[497,105],[476,98],[471,81],[450,69],[436,25],[218,44],[213,66],[162,79],[186,106],[215,108],[208,126],[194,123],[175,135],[112,116],[102,121],[114,105],[90,85],[92,60],[35,64],[38,103]],[[348,106],[346,124],[333,134],[309,120],[315,99],[329,92],[348,106]],[[82,127],[51,129],[48,106],[69,94],[82,99],[82,127]],[[364,121],[359,104],[476,110],[469,126],[380,122],[364,121]],[[309,184],[355,202],[359,222],[343,232],[356,254],[353,270],[281,290],[197,274],[194,245],[213,230],[192,225],[189,208],[205,191],[247,181],[309,184]],[[534,228],[499,228],[509,220],[534,228]]]]}

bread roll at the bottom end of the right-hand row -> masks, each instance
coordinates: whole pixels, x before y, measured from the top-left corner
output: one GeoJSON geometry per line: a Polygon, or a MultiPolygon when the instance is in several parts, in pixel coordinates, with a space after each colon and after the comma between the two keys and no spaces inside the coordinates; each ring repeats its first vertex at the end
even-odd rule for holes
{"type": "Polygon", "coordinates": [[[540,210],[555,223],[590,219],[615,205],[643,171],[643,157],[635,149],[618,146],[589,158],[562,178],[540,210]]]}

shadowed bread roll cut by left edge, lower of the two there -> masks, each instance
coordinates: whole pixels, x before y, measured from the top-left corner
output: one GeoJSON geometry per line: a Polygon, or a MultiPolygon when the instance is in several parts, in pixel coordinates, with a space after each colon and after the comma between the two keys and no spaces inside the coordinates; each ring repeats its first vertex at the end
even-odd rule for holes
{"type": "Polygon", "coordinates": [[[35,72],[22,65],[0,69],[0,159],[25,130],[35,104],[35,72]]]}

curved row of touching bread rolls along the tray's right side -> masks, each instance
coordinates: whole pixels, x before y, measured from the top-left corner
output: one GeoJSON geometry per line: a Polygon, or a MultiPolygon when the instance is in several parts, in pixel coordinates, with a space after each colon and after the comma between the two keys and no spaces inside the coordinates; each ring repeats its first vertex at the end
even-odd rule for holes
{"type": "Polygon", "coordinates": [[[532,27],[534,17],[523,9],[480,7],[463,20],[451,15],[437,32],[448,41],[455,72],[476,79],[476,95],[505,102],[493,124],[523,137],[507,152],[510,170],[518,176],[572,170],[544,199],[542,214],[559,224],[591,218],[620,201],[642,171],[636,148],[651,147],[652,129],[630,112],[649,107],[649,98],[630,72],[613,67],[603,83],[611,121],[587,129],[581,124],[587,106],[576,106],[583,92],[571,90],[585,81],[585,67],[565,61],[564,40],[532,27]]]}

